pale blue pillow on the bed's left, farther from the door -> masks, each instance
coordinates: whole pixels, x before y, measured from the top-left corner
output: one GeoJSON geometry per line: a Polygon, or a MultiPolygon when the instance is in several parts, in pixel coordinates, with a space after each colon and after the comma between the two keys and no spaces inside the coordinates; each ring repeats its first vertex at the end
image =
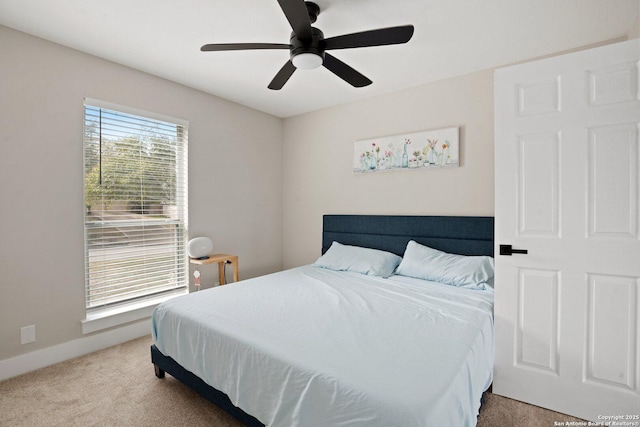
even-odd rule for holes
{"type": "Polygon", "coordinates": [[[327,252],[312,266],[389,277],[401,260],[402,258],[391,252],[333,242],[327,252]]]}

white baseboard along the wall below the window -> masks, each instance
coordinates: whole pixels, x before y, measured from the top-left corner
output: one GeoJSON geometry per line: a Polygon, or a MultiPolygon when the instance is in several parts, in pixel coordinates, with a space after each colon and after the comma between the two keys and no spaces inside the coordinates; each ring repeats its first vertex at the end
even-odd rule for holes
{"type": "Polygon", "coordinates": [[[0,360],[0,381],[145,335],[151,335],[151,320],[148,318],[100,334],[78,338],[11,359],[0,360]]]}

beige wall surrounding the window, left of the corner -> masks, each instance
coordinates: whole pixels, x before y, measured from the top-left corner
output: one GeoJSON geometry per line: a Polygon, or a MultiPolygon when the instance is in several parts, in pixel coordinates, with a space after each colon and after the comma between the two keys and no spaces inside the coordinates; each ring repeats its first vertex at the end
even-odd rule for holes
{"type": "Polygon", "coordinates": [[[84,97],[188,120],[190,235],[282,268],[281,119],[0,26],[0,361],[82,338],[84,97]]]}

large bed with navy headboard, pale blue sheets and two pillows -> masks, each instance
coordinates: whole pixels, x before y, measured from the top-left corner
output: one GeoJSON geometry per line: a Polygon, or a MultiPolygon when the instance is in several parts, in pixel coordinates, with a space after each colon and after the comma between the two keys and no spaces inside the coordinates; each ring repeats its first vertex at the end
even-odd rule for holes
{"type": "Polygon", "coordinates": [[[492,381],[493,228],[325,215],[314,264],[158,306],[156,376],[247,425],[473,426],[492,381]]]}

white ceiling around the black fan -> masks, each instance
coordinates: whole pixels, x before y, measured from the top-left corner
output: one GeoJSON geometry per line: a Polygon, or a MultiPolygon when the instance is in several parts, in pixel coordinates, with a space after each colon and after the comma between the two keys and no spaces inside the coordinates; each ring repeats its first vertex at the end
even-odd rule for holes
{"type": "MultiPolygon", "coordinates": [[[[200,52],[206,43],[288,43],[276,0],[0,0],[0,24],[279,117],[626,36],[640,0],[316,0],[325,38],[413,24],[404,45],[332,51],[373,80],[324,68],[267,89],[286,50],[200,52]]],[[[1,58],[0,58],[1,60],[1,58]]],[[[425,100],[428,102],[428,100],[425,100]]]]}

